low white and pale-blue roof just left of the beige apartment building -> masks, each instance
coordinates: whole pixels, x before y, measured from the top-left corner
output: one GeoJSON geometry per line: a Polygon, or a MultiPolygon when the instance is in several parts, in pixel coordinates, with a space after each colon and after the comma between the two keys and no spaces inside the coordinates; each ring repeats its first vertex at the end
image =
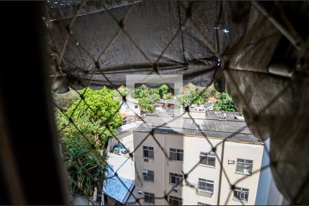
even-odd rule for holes
{"type": "Polygon", "coordinates": [[[107,163],[109,167],[103,192],[124,204],[129,198],[131,199],[130,191],[135,185],[134,163],[130,158],[113,153],[108,153],[107,163]],[[119,179],[115,176],[115,172],[117,172],[119,179]]]}

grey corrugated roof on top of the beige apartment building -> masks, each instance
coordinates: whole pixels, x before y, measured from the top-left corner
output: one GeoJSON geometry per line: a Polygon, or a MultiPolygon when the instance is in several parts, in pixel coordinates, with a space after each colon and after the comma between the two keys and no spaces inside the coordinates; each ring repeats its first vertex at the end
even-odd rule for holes
{"type": "Polygon", "coordinates": [[[233,141],[262,142],[252,135],[246,122],[238,119],[199,119],[198,122],[194,123],[194,120],[190,118],[146,115],[144,121],[147,125],[141,124],[135,131],[146,132],[152,128],[155,133],[178,133],[183,135],[218,137],[233,141]]]}

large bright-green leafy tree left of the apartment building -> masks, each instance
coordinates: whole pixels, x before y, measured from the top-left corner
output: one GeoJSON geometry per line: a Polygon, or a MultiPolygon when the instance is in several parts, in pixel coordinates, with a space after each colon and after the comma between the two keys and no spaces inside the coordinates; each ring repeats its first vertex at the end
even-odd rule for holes
{"type": "Polygon", "coordinates": [[[57,111],[56,119],[71,192],[91,199],[94,187],[100,190],[104,183],[107,157],[102,150],[122,117],[113,91],[104,87],[80,93],[84,101],[76,100],[63,113],[57,111]]]}

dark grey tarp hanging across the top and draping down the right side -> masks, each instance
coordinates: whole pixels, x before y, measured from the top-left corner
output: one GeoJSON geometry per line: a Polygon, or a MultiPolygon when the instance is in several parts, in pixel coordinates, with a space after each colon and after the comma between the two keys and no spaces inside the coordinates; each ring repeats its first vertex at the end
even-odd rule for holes
{"type": "Polygon", "coordinates": [[[128,74],[214,82],[256,137],[271,137],[271,169],[285,198],[309,204],[308,1],[60,4],[49,4],[47,19],[53,91],[115,88],[128,74]]]}

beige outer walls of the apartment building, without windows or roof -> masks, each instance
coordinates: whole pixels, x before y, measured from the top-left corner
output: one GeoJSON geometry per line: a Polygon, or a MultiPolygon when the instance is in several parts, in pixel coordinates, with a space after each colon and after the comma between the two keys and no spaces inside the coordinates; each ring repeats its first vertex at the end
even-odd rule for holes
{"type": "MultiPolygon", "coordinates": [[[[138,146],[141,141],[146,137],[148,133],[134,132],[134,146],[138,146]]],[[[170,195],[183,198],[183,205],[197,205],[197,202],[206,203],[209,205],[216,205],[218,198],[218,186],[219,186],[219,175],[220,175],[220,163],[216,159],[216,167],[211,168],[205,165],[198,165],[200,152],[210,152],[211,144],[217,147],[216,153],[220,159],[221,155],[221,143],[222,139],[204,137],[190,137],[184,135],[175,134],[155,134],[155,138],[165,149],[165,153],[169,156],[170,148],[179,148],[184,150],[183,162],[169,161],[163,154],[161,148],[159,148],[156,141],[150,135],[137,150],[134,152],[135,159],[135,196],[137,198],[143,198],[144,194],[140,195],[137,190],[143,192],[150,192],[155,194],[155,197],[163,197],[164,192],[168,193],[172,190],[172,185],[169,183],[170,172],[182,174],[181,171],[187,173],[194,168],[187,176],[187,181],[194,185],[194,188],[187,185],[183,185],[179,192],[171,192],[170,195]],[[143,146],[154,147],[155,159],[149,159],[148,162],[144,162],[143,158],[143,146]],[[155,183],[149,183],[143,181],[142,171],[143,169],[155,171],[155,183]],[[141,179],[141,181],[139,180],[141,179]],[[211,197],[199,196],[196,194],[196,188],[198,187],[198,178],[207,179],[214,181],[214,194],[211,197]]],[[[263,146],[252,145],[252,144],[239,144],[233,142],[226,142],[225,144],[225,159],[223,161],[223,167],[227,171],[227,176],[231,179],[232,183],[242,178],[243,174],[236,174],[236,164],[228,165],[227,160],[233,159],[237,161],[237,158],[252,159],[253,160],[253,171],[260,168],[262,161],[263,146]]],[[[224,176],[224,174],[223,174],[224,176]]],[[[242,181],[237,186],[248,188],[249,191],[249,203],[248,205],[254,205],[255,195],[258,189],[258,176],[259,174],[253,174],[249,176],[249,179],[242,181]]],[[[221,201],[220,204],[224,204],[227,196],[229,195],[229,185],[226,179],[222,179],[221,189],[221,201]],[[224,201],[222,201],[222,199],[224,201]]],[[[233,195],[233,194],[231,194],[233,195]]],[[[238,201],[232,200],[233,196],[229,198],[228,204],[230,205],[241,205],[238,201]]],[[[141,201],[144,203],[144,200],[141,201]]],[[[164,199],[155,199],[155,205],[166,205],[164,199]]]]}

